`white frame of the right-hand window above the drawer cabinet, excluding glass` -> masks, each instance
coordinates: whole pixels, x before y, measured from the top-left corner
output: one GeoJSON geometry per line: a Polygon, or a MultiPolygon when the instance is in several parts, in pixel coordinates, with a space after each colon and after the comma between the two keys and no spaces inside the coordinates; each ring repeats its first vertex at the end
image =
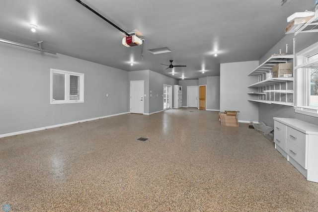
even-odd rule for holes
{"type": "MultiPolygon", "coordinates": [[[[296,66],[308,61],[308,58],[318,53],[318,42],[298,52],[295,55],[296,66]]],[[[308,68],[295,70],[295,112],[318,117],[318,107],[309,106],[310,74],[308,68]]]]}

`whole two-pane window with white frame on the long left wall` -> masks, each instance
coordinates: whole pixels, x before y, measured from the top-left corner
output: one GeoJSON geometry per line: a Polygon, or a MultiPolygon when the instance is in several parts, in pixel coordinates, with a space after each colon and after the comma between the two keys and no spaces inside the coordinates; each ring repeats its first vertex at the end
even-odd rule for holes
{"type": "Polygon", "coordinates": [[[51,104],[84,102],[84,74],[51,69],[51,104]]]}

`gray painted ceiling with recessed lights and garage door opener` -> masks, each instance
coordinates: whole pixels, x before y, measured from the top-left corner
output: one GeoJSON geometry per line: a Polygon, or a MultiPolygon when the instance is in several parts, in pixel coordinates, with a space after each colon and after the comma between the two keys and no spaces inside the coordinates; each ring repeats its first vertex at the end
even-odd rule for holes
{"type": "MultiPolygon", "coordinates": [[[[284,37],[287,17],[315,0],[82,0],[117,26],[137,30],[140,46],[76,0],[1,0],[0,38],[125,71],[152,70],[180,79],[220,75],[220,63],[259,60],[284,37]],[[30,31],[37,25],[37,32],[30,31]],[[153,55],[148,49],[168,47],[153,55]],[[213,52],[219,53],[214,57],[213,52]],[[130,66],[130,61],[134,66],[130,66]],[[173,65],[187,67],[165,70],[173,65]],[[202,73],[202,69],[206,70],[202,73]]],[[[9,44],[7,44],[9,45],[9,44]]],[[[45,53],[46,54],[46,53],[45,53]]]]}

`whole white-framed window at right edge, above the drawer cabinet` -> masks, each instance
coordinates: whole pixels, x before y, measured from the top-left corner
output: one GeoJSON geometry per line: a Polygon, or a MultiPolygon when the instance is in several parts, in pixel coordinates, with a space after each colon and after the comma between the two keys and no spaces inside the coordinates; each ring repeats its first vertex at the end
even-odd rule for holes
{"type": "Polygon", "coordinates": [[[295,111],[318,117],[318,43],[299,52],[296,59],[295,111]]]}

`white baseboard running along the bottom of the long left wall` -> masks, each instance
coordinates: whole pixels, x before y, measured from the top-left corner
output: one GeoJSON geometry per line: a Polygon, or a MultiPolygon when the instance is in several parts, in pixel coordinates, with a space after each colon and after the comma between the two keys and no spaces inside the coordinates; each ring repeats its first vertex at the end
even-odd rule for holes
{"type": "Polygon", "coordinates": [[[112,115],[107,115],[107,116],[101,116],[101,117],[96,117],[96,118],[91,118],[91,119],[84,119],[84,120],[79,120],[79,121],[75,121],[75,122],[68,122],[68,123],[63,123],[63,124],[58,124],[58,125],[51,125],[51,126],[46,126],[46,127],[29,129],[29,130],[16,131],[16,132],[12,132],[12,133],[5,133],[5,134],[0,134],[0,138],[8,137],[8,136],[15,136],[15,135],[24,134],[24,133],[31,133],[31,132],[46,130],[46,129],[51,129],[51,128],[57,128],[57,127],[62,127],[62,126],[66,126],[66,125],[73,125],[73,124],[77,124],[77,123],[81,123],[81,122],[88,122],[88,121],[108,118],[108,117],[112,117],[112,116],[119,116],[119,115],[124,115],[127,113],[129,113],[129,112],[117,113],[117,114],[112,114],[112,115]]]}

